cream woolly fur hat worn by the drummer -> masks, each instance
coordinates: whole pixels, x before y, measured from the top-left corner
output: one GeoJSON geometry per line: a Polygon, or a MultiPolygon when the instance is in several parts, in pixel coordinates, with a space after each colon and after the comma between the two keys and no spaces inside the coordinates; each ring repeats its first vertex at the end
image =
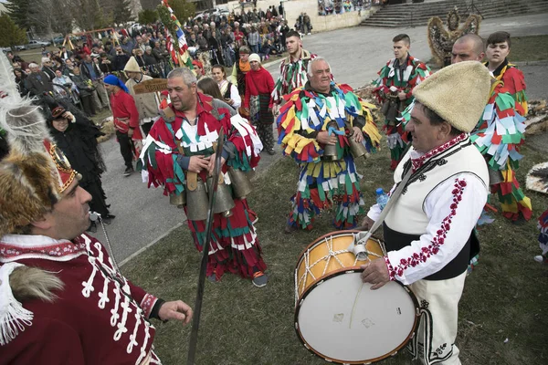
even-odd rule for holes
{"type": "Polygon", "coordinates": [[[433,110],[457,130],[476,127],[490,97],[489,70],[478,61],[442,68],[413,89],[417,102],[433,110]]]}

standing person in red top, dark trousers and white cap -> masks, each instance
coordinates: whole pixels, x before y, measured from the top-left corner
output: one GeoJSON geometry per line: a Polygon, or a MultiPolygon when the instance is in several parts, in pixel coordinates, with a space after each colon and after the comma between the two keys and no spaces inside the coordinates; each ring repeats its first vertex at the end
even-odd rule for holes
{"type": "Polygon", "coordinates": [[[246,99],[244,108],[249,111],[249,118],[257,126],[257,133],[265,150],[274,153],[274,136],[272,134],[272,91],[274,79],[269,71],[260,64],[260,57],[254,53],[249,56],[251,70],[246,75],[246,99]]]}

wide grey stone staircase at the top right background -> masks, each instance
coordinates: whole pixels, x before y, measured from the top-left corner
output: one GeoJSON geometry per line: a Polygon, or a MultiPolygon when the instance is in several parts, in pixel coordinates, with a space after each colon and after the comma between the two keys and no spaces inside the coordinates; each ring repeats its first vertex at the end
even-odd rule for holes
{"type": "MultiPolygon", "coordinates": [[[[407,1],[409,4],[386,5],[365,19],[361,26],[426,26],[432,16],[439,16],[445,23],[449,10],[455,6],[458,6],[461,20],[469,14],[477,14],[476,11],[469,9],[471,0],[443,0],[417,4],[411,4],[411,0],[407,1]]],[[[484,18],[548,13],[548,0],[474,0],[474,5],[484,18]]]]}

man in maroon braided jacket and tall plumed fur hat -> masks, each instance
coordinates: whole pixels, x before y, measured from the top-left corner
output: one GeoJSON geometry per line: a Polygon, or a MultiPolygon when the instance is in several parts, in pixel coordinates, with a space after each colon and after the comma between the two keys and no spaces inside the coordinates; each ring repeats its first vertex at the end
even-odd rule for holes
{"type": "Polygon", "coordinates": [[[151,319],[187,324],[192,309],[132,284],[84,233],[91,196],[79,173],[39,109],[14,98],[15,87],[2,85],[3,95],[5,88],[0,126],[10,151],[0,161],[0,364],[159,364],[151,319]]]}

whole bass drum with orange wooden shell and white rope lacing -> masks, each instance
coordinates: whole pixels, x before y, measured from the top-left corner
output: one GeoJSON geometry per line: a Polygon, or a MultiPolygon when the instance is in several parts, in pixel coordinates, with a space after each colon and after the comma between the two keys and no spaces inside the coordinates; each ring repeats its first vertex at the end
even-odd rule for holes
{"type": "MultiPolygon", "coordinates": [[[[323,235],[300,255],[295,268],[295,329],[305,348],[324,360],[366,364],[383,360],[413,338],[416,297],[398,282],[371,290],[361,265],[383,259],[384,244],[371,238],[367,257],[352,247],[360,231],[323,235]]],[[[363,234],[363,233],[362,233],[363,234]]]]}

